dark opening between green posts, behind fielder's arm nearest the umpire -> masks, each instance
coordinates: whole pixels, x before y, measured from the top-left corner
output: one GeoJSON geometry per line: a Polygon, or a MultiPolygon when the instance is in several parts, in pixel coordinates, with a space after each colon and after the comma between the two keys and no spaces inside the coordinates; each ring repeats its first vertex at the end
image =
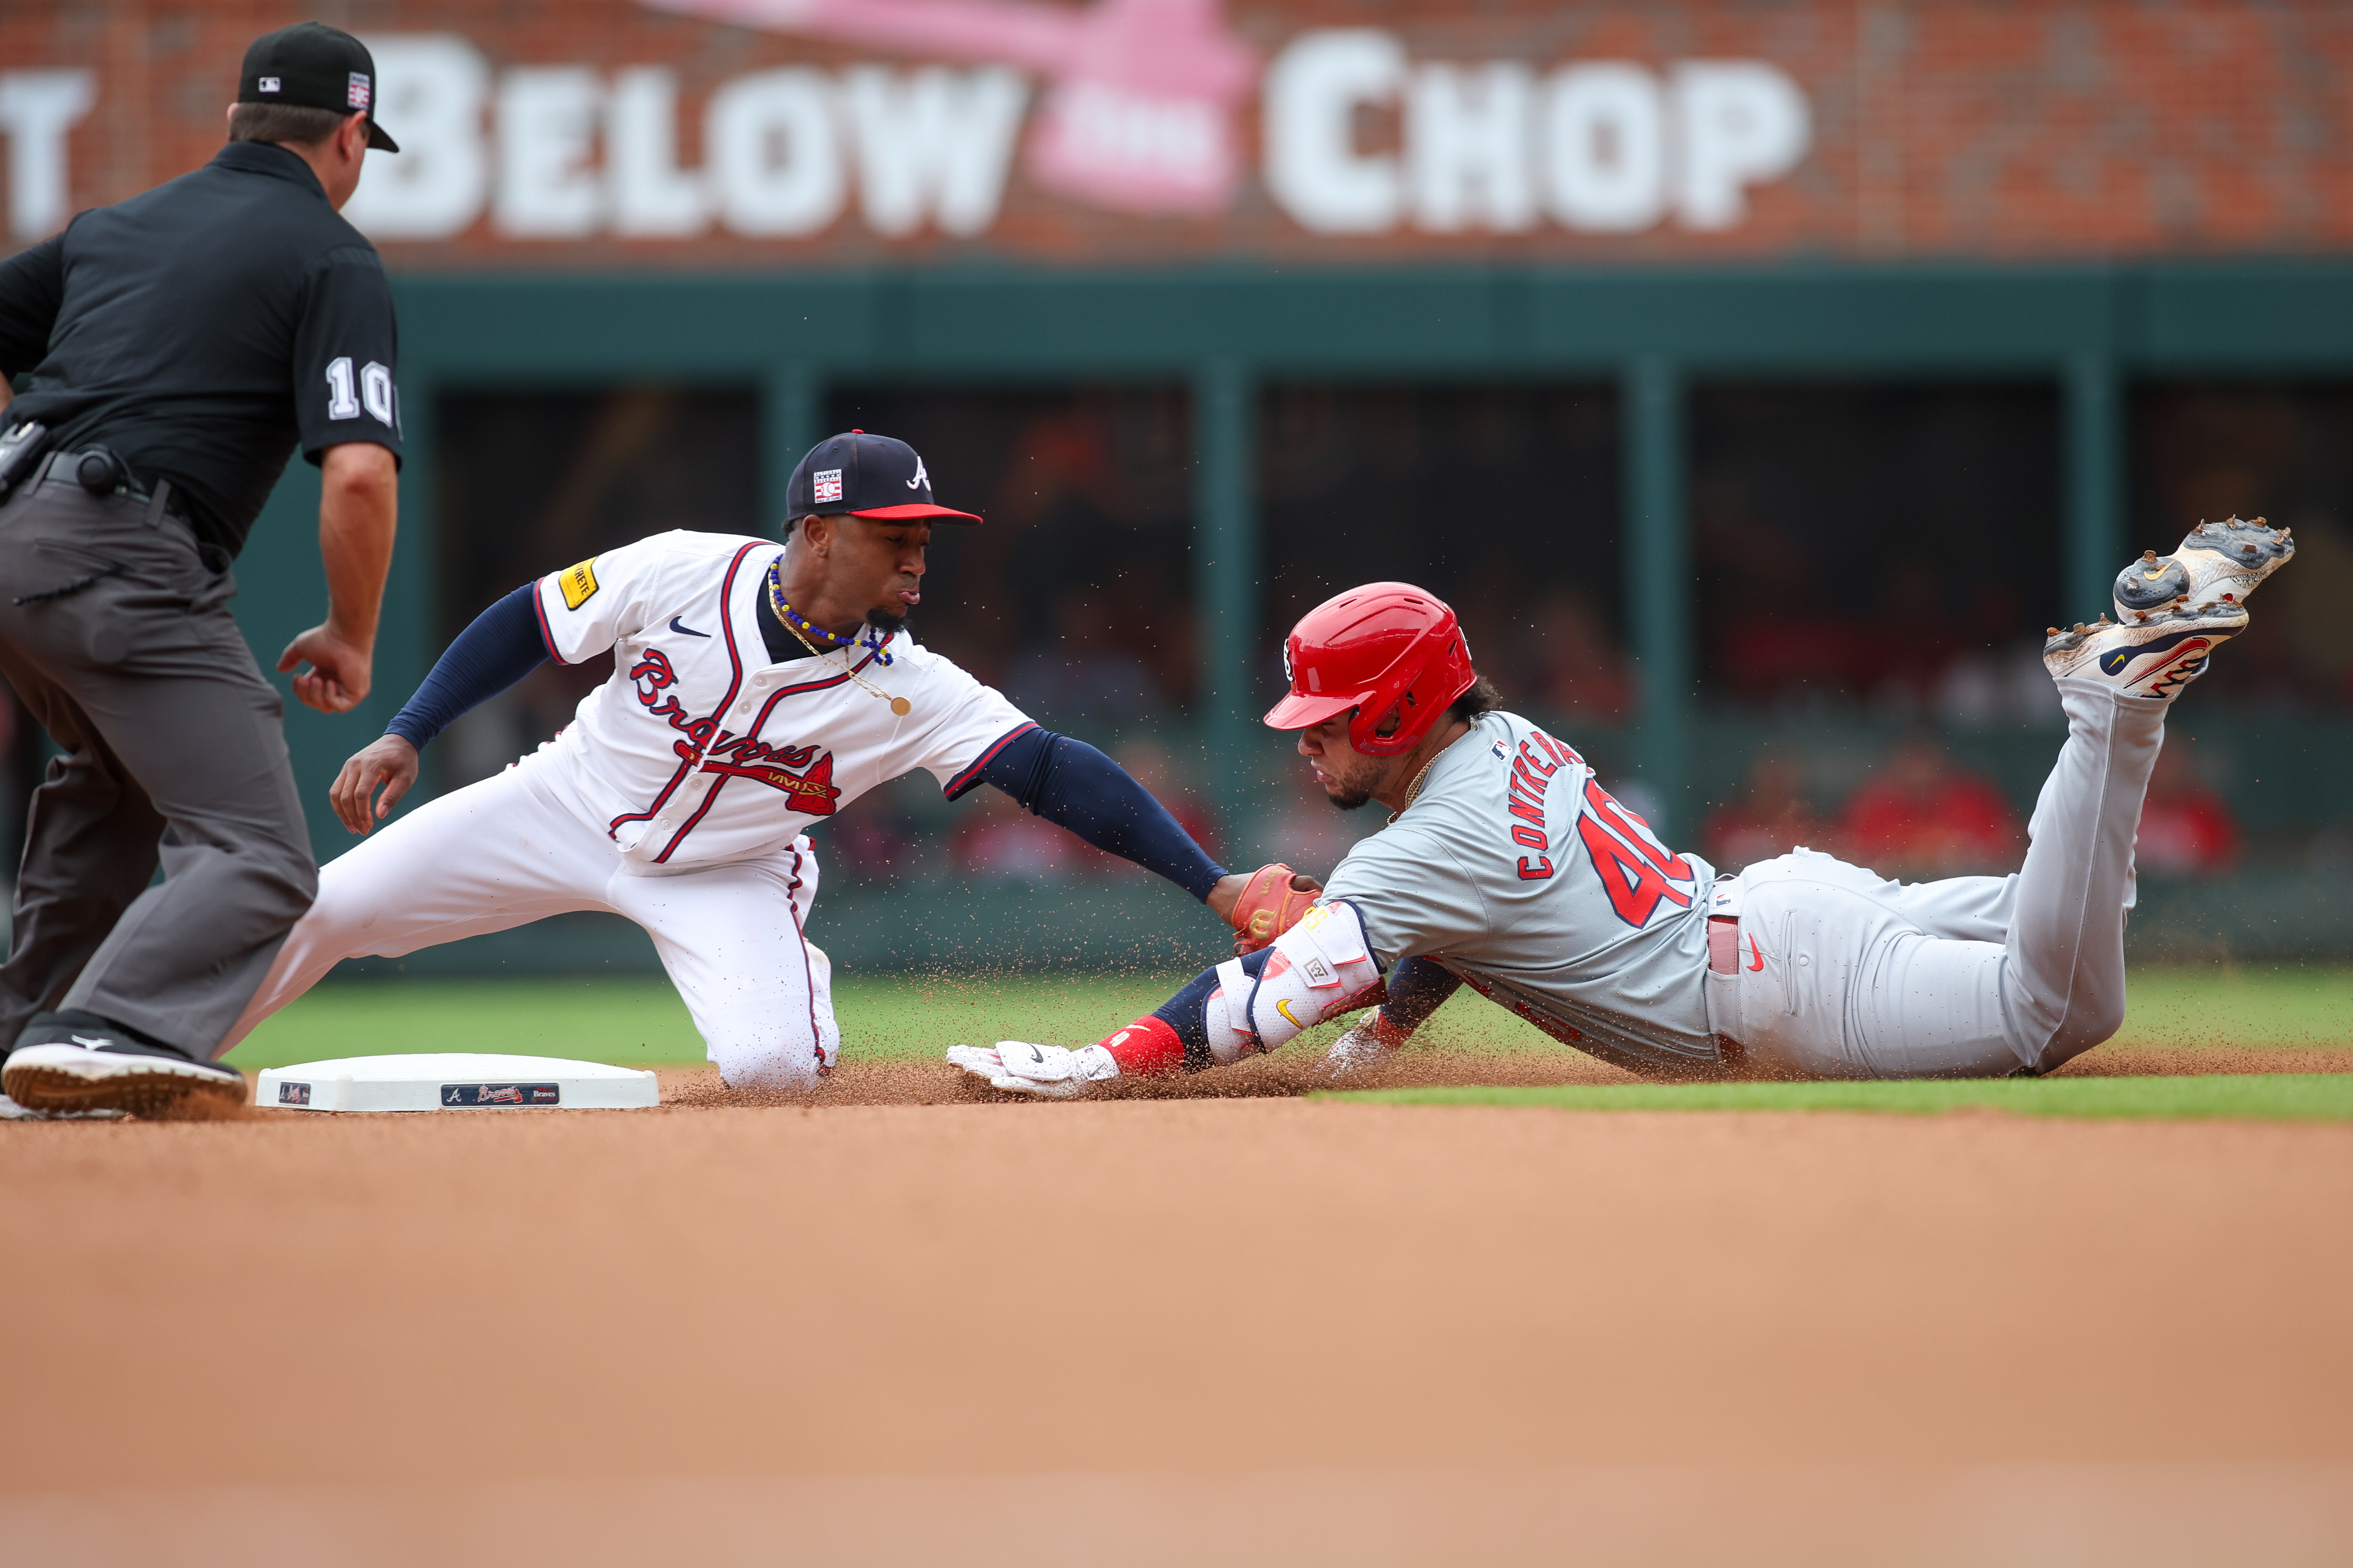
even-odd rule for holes
{"type": "MultiPolygon", "coordinates": [[[[520,583],[647,534],[774,531],[758,390],[449,390],[435,411],[440,646],[520,583]]],[[[609,658],[541,665],[449,726],[428,750],[433,785],[496,773],[609,677],[609,658]]]]}

